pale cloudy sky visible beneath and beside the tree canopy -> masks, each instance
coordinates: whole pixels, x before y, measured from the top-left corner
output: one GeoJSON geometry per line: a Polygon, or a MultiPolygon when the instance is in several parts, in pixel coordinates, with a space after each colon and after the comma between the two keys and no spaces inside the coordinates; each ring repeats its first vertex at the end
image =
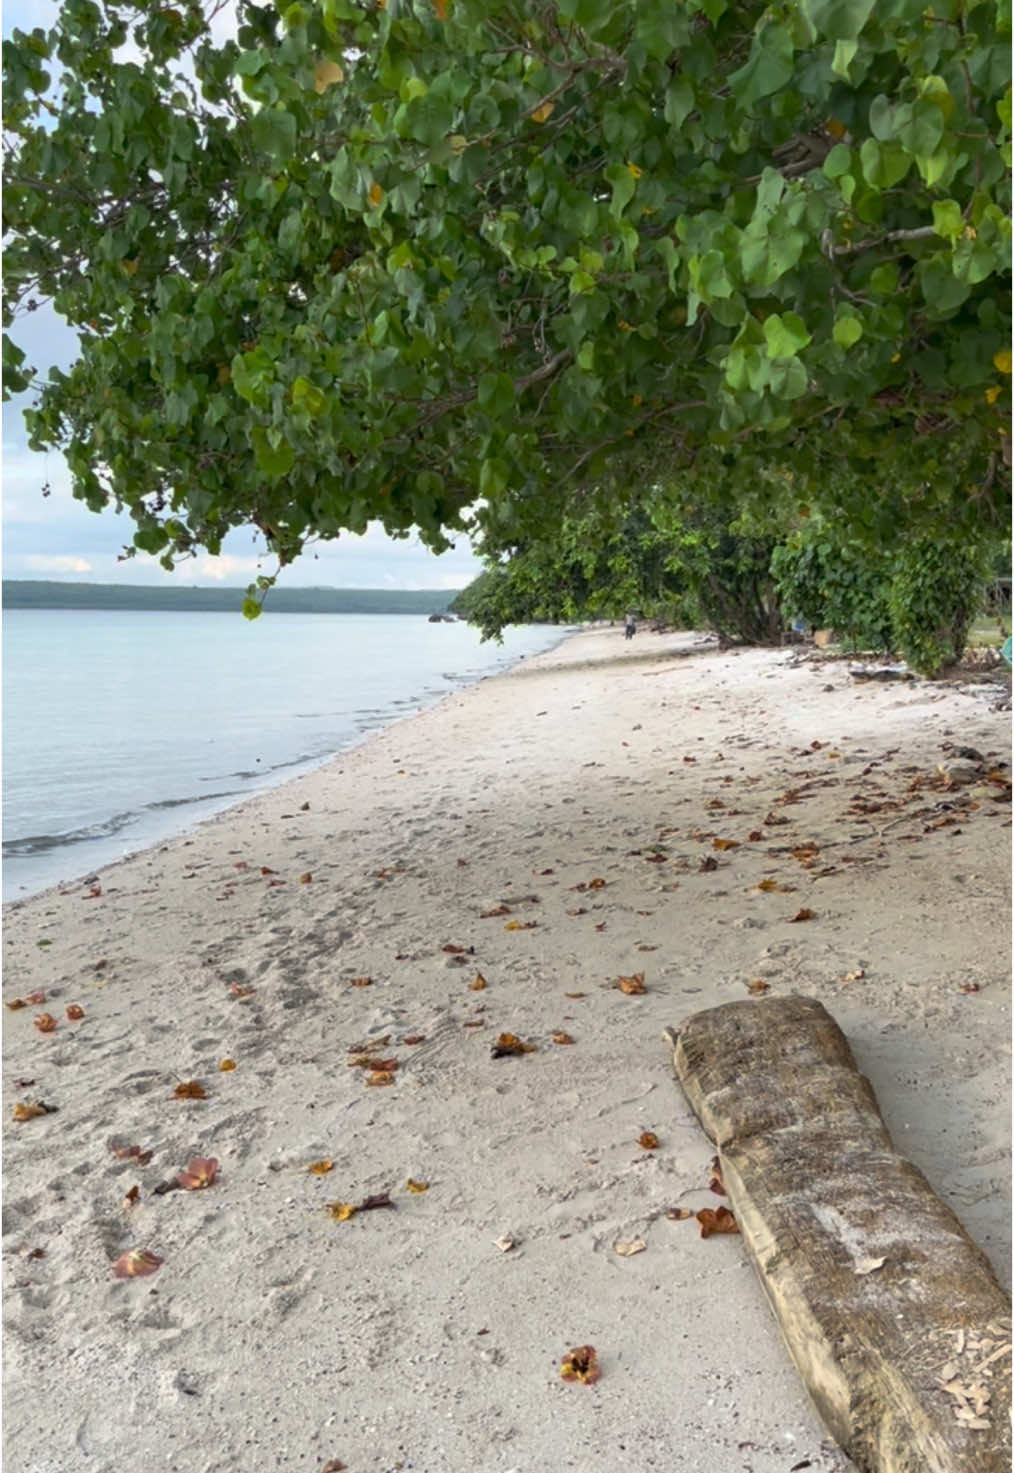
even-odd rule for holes
{"type": "MultiPolygon", "coordinates": [[[[16,27],[47,27],[56,15],[52,0],[7,0],[4,35],[16,27]]],[[[49,308],[21,317],[12,337],[44,377],[53,364],[66,367],[77,336],[49,308]]],[[[59,454],[28,449],[22,409],[28,396],[3,407],[3,574],[57,577],[93,583],[234,583],[245,586],[259,572],[273,573],[273,560],[256,555],[254,532],[234,532],[221,557],[197,557],[175,573],[164,572],[143,554],[118,563],[133,535],[128,517],[88,511],[71,496],[66,463],[59,454]],[[43,486],[50,493],[43,496],[43,486]]],[[[261,546],[262,546],[262,539],[261,546]]],[[[343,536],[310,548],[284,569],[283,583],[329,588],[464,588],[480,572],[467,538],[441,557],[417,538],[395,539],[371,526],[366,536],[343,536]]]]}

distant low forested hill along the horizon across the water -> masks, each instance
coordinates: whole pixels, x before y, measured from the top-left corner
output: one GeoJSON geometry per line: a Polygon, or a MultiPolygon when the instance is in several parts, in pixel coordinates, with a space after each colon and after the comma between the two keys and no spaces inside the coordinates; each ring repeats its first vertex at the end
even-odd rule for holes
{"type": "MultiPolygon", "coordinates": [[[[270,614],[444,614],[460,589],[274,588],[270,614]]],[[[136,583],[3,580],[4,608],[155,608],[172,613],[231,613],[242,588],[143,588],[136,583]]]]}

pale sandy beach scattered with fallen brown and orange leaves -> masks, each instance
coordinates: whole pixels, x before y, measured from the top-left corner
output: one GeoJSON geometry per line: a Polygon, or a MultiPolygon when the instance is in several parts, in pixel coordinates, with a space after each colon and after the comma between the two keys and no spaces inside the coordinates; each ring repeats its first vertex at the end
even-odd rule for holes
{"type": "Polygon", "coordinates": [[[666,1217],[716,1198],[660,1036],[819,997],[1008,1279],[1010,804],[946,744],[1010,760],[1010,717],[590,630],[10,906],[4,999],[46,1002],[4,1013],[6,1473],[846,1469],[741,1240],[666,1217]]]}

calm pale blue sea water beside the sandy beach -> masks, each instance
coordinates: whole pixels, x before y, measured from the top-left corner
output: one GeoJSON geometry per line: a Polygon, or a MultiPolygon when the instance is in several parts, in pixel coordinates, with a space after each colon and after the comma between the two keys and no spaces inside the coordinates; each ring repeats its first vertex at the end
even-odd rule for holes
{"type": "Polygon", "coordinates": [[[563,630],[407,614],[7,610],[3,897],[87,875],[563,630]]]}

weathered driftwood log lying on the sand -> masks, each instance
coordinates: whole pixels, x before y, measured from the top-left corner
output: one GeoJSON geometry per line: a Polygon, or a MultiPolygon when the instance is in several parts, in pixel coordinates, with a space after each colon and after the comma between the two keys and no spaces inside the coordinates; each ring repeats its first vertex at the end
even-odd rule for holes
{"type": "Polygon", "coordinates": [[[668,1031],[796,1367],[868,1473],[1010,1473],[1010,1301],[809,997],[668,1031]]]}

